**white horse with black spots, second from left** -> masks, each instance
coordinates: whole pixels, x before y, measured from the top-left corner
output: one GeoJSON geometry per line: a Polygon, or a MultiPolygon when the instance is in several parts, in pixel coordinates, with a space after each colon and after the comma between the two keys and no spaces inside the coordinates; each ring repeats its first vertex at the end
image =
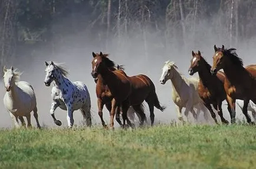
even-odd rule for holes
{"type": "Polygon", "coordinates": [[[80,81],[71,82],[67,78],[68,72],[61,67],[61,64],[54,64],[54,62],[48,64],[45,62],[45,65],[44,83],[49,87],[53,81],[50,113],[54,123],[61,125],[61,121],[56,120],[54,116],[54,111],[57,107],[60,107],[62,110],[67,111],[68,128],[73,127],[73,112],[75,110],[80,110],[86,120],[86,125],[91,126],[91,99],[86,85],[80,81]]]}

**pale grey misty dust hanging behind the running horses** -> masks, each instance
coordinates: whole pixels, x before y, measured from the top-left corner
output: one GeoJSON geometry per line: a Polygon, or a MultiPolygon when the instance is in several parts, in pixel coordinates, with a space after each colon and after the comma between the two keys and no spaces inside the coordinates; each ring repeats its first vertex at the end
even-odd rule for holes
{"type": "MultiPolygon", "coordinates": [[[[155,84],[156,93],[158,95],[160,104],[166,106],[166,110],[161,112],[155,108],[155,124],[169,123],[172,120],[177,119],[177,111],[175,104],[172,101],[172,85],[171,82],[166,82],[165,85],[160,84],[159,78],[162,74],[162,67],[168,60],[174,61],[178,66],[178,70],[182,72],[185,77],[191,77],[188,74],[188,68],[192,58],[191,52],[201,51],[202,56],[212,65],[212,57],[214,55],[214,45],[221,47],[225,45],[225,48],[236,48],[238,56],[244,61],[244,65],[256,63],[255,59],[255,42],[256,38],[252,36],[250,39],[238,41],[236,44],[231,44],[229,41],[226,30],[226,25],[218,26],[214,28],[212,26],[213,21],[217,21],[222,18],[223,15],[213,15],[211,19],[202,18],[196,25],[196,34],[193,35],[190,31],[187,31],[185,44],[180,42],[182,35],[166,35],[163,31],[158,34],[153,34],[155,28],[147,26],[145,36],[142,36],[141,29],[134,28],[129,32],[129,39],[125,35],[121,34],[119,37],[110,36],[106,38],[101,36],[102,32],[106,28],[97,27],[93,28],[93,31],[88,29],[76,28],[75,33],[69,33],[70,24],[74,22],[74,16],[67,15],[63,19],[55,21],[51,25],[51,29],[57,29],[60,34],[62,32],[62,41],[54,39],[52,35],[52,42],[47,45],[37,45],[29,48],[19,48],[17,51],[17,57],[13,58],[9,63],[5,64],[7,68],[14,66],[19,71],[23,72],[21,75],[21,81],[29,82],[35,90],[37,97],[38,115],[41,125],[48,127],[57,127],[50,115],[51,107],[51,87],[45,87],[45,61],[64,62],[65,67],[68,68],[68,78],[71,81],[82,81],[87,85],[88,91],[91,97],[91,114],[93,115],[93,125],[100,124],[100,118],[97,108],[96,97],[96,84],[93,77],[91,77],[91,61],[93,60],[92,52],[103,52],[110,54],[109,58],[116,62],[116,64],[124,65],[127,75],[145,74],[155,84]],[[67,32],[67,34],[65,34],[67,32]],[[100,38],[99,38],[100,37],[100,38]],[[146,39],[145,39],[146,37],[146,39]],[[166,42],[166,39],[168,42],[166,42]],[[165,42],[163,42],[165,41],[165,42]],[[52,49],[54,44],[54,50],[52,49]],[[106,45],[107,44],[107,45],[106,45]]],[[[76,22],[83,22],[83,18],[75,17],[76,22]]],[[[251,21],[252,22],[252,21],[251,21]]],[[[161,23],[163,24],[163,23],[161,23]]],[[[179,28],[176,28],[179,29],[179,28]]],[[[122,29],[123,30],[123,29],[122,29]]],[[[56,32],[56,31],[55,31],[56,32]]],[[[123,32],[123,31],[122,31],[123,32]]],[[[56,35],[57,37],[57,35],[56,35]]],[[[193,75],[198,77],[198,74],[193,75]]],[[[1,82],[1,98],[4,98],[5,88],[1,82]]],[[[230,122],[229,113],[227,111],[227,102],[223,102],[222,108],[224,111],[224,118],[230,122]]],[[[12,127],[13,122],[9,113],[5,110],[4,104],[0,102],[1,118],[0,127],[12,127]]],[[[182,110],[184,117],[185,108],[182,110]]],[[[216,112],[216,111],[215,111],[216,112]]],[[[241,110],[236,107],[236,118],[242,119],[244,115],[241,110]]],[[[146,105],[146,116],[149,120],[149,110],[146,105]]],[[[201,112],[201,116],[202,116],[201,112]]],[[[251,112],[249,112],[251,116],[251,112]]],[[[67,112],[57,108],[55,111],[55,117],[61,120],[62,126],[67,126],[67,112]]],[[[189,117],[192,118],[191,113],[189,117]]],[[[216,114],[217,120],[219,117],[216,114]]],[[[104,107],[103,118],[107,124],[109,124],[110,116],[109,111],[104,107]]],[[[202,117],[199,117],[201,121],[202,117]]],[[[209,115],[209,120],[212,120],[209,115]]],[[[80,111],[74,112],[74,124],[81,125],[83,116],[80,111]]],[[[27,120],[25,120],[27,124],[27,120]]],[[[31,112],[31,122],[35,125],[35,119],[31,112]]],[[[114,121],[115,126],[117,122],[114,121]]],[[[100,124],[101,125],[101,124],[100,124]]]]}

